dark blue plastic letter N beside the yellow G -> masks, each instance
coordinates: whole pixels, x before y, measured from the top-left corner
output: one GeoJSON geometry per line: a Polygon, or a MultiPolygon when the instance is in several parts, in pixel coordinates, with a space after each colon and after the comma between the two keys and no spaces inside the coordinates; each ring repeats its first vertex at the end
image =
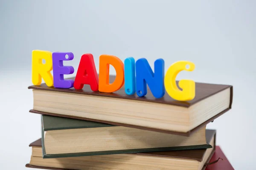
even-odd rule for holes
{"type": "Polygon", "coordinates": [[[154,62],[154,73],[145,58],[136,62],[136,89],[137,95],[143,97],[147,94],[147,84],[155,98],[164,96],[164,61],[157,59],[154,62]]]}

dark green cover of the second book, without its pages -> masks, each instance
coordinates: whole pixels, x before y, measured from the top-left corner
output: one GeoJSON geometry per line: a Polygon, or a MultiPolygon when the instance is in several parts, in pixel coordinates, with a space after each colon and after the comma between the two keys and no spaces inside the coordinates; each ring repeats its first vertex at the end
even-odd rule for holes
{"type": "Polygon", "coordinates": [[[78,119],[69,119],[63,117],[42,115],[42,151],[43,158],[64,158],[64,157],[78,157],[78,156],[96,156],[96,155],[109,155],[109,154],[123,154],[123,153],[144,153],[144,152],[159,152],[159,151],[172,151],[172,150],[195,150],[195,149],[207,149],[212,148],[207,144],[193,145],[193,146],[178,146],[178,147],[158,147],[158,148],[146,148],[146,149],[130,149],[130,150],[110,150],[110,151],[97,151],[97,152],[83,152],[83,153],[65,153],[65,154],[46,154],[44,147],[44,132],[49,130],[65,130],[65,129],[79,129],[79,128],[97,128],[97,127],[113,127],[114,125],[108,125],[104,123],[90,122],[78,119]]]}

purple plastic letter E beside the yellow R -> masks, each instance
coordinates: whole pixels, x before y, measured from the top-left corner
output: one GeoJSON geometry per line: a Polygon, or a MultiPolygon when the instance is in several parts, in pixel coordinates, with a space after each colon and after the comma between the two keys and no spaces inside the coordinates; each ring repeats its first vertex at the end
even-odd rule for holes
{"type": "Polygon", "coordinates": [[[55,88],[73,88],[74,80],[64,80],[64,74],[73,74],[72,66],[63,66],[64,60],[72,60],[74,54],[71,52],[52,53],[53,83],[55,88]],[[66,58],[66,55],[68,56],[66,58]]]}

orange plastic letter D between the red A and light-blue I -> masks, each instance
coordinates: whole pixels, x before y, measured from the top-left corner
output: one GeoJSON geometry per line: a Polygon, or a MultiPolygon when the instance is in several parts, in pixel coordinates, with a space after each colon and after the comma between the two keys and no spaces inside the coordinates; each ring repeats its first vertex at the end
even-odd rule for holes
{"type": "Polygon", "coordinates": [[[124,63],[116,56],[99,56],[99,91],[112,93],[118,91],[125,83],[124,63]],[[109,84],[109,65],[113,65],[116,70],[116,79],[109,84]]]}

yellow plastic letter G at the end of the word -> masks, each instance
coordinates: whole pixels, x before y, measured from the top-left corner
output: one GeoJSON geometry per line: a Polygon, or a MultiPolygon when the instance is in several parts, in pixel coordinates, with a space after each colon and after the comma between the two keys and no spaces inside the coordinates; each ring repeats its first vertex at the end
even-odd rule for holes
{"type": "Polygon", "coordinates": [[[189,61],[178,61],[173,63],[167,70],[164,78],[164,86],[166,92],[175,100],[188,101],[195,97],[195,82],[192,80],[180,80],[179,86],[183,89],[181,91],[176,85],[176,77],[180,71],[193,71],[195,64],[189,61]],[[189,65],[189,68],[186,68],[189,65]]]}

